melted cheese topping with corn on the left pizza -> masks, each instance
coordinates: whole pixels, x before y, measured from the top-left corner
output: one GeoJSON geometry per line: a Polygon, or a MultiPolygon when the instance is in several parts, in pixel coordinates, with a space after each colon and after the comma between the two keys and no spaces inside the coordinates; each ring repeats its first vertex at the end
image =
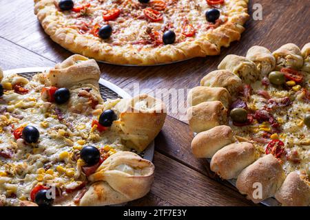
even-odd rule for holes
{"type": "MultiPolygon", "coordinates": [[[[16,75],[7,76],[2,84],[13,83],[14,77],[16,75]]],[[[117,127],[102,133],[92,127],[92,120],[98,116],[72,113],[68,111],[68,103],[57,105],[43,101],[43,87],[34,76],[34,80],[24,86],[29,90],[27,94],[8,90],[0,98],[0,206],[15,206],[20,200],[30,200],[30,192],[37,184],[55,186],[61,190],[62,198],[70,197],[70,191],[87,181],[81,170],[83,161],[79,159],[83,146],[101,148],[107,157],[117,151],[130,150],[122,144],[122,133],[117,127]],[[39,130],[38,143],[15,140],[13,131],[27,125],[39,130]]],[[[72,94],[74,91],[70,92],[71,99],[78,98],[72,94]]],[[[74,103],[79,101],[83,100],[74,100],[74,103]]],[[[113,109],[118,101],[107,100],[99,106],[103,110],[113,109]]],[[[129,166],[122,169],[136,173],[129,166]]]]}

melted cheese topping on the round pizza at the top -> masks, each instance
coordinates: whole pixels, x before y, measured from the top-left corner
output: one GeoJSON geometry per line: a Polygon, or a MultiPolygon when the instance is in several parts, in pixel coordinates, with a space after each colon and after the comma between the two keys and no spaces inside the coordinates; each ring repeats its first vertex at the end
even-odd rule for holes
{"type": "Polygon", "coordinates": [[[116,47],[130,44],[139,49],[142,45],[144,48],[158,46],[150,39],[147,30],[158,32],[160,35],[166,30],[173,30],[176,33],[176,43],[193,41],[205,36],[212,29],[210,28],[211,23],[206,21],[205,12],[207,10],[214,7],[218,8],[221,14],[220,23],[225,23],[229,14],[234,14],[238,11],[238,7],[234,5],[234,2],[229,0],[225,0],[223,5],[214,5],[214,7],[208,5],[207,1],[197,0],[164,0],[163,2],[166,3],[165,9],[158,10],[161,12],[163,20],[156,22],[150,21],[144,14],[145,8],[156,9],[152,5],[152,1],[140,3],[138,0],[76,0],[74,1],[75,5],[87,5],[87,3],[90,3],[90,7],[81,12],[57,11],[56,15],[63,16],[63,19],[59,20],[63,27],[73,28],[78,30],[80,34],[98,41],[101,41],[101,39],[91,34],[90,30],[96,24],[99,24],[99,26],[110,24],[113,34],[110,39],[105,40],[106,43],[116,47]],[[233,5],[235,8],[232,8],[233,5]],[[105,21],[103,19],[103,12],[115,8],[121,10],[121,14],[112,21],[105,21]],[[195,30],[194,36],[186,37],[183,34],[185,19],[193,26],[195,30]]]}

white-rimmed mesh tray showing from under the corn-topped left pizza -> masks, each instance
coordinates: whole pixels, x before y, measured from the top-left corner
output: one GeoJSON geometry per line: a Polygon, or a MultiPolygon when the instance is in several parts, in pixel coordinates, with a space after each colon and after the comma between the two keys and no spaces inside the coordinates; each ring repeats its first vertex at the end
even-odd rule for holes
{"type": "MultiPolygon", "coordinates": [[[[21,68],[21,69],[10,69],[4,71],[5,74],[19,74],[21,76],[24,76],[25,78],[31,79],[34,74],[45,72],[51,69],[50,67],[30,67],[30,68],[21,68]]],[[[103,100],[107,100],[107,98],[110,99],[116,99],[116,98],[132,98],[130,94],[127,94],[126,91],[121,89],[120,87],[114,85],[113,83],[110,83],[107,80],[104,80],[101,78],[99,80],[99,87],[100,87],[100,94],[103,98],[103,100]]],[[[134,151],[134,153],[137,153],[134,151]]],[[[138,153],[141,157],[144,159],[147,159],[149,161],[153,160],[154,157],[154,141],[147,146],[145,151],[142,153],[138,153]]]]}

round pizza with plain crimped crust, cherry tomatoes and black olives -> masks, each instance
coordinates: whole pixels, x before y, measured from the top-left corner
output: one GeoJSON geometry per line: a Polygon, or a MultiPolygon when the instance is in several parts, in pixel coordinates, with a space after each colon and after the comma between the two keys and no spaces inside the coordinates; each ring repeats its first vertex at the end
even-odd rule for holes
{"type": "Polygon", "coordinates": [[[154,65],[217,55],[240,39],[247,0],[34,0],[53,41],[97,61],[154,65]]]}

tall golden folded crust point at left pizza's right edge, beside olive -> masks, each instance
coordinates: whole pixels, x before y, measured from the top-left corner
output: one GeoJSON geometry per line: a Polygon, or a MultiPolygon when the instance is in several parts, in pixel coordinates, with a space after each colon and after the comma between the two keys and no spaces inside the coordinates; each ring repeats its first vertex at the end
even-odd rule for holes
{"type": "Polygon", "coordinates": [[[122,99],[114,108],[119,118],[113,124],[123,131],[124,144],[138,152],[144,151],[158,135],[167,115],[165,104],[147,94],[122,99]]]}

